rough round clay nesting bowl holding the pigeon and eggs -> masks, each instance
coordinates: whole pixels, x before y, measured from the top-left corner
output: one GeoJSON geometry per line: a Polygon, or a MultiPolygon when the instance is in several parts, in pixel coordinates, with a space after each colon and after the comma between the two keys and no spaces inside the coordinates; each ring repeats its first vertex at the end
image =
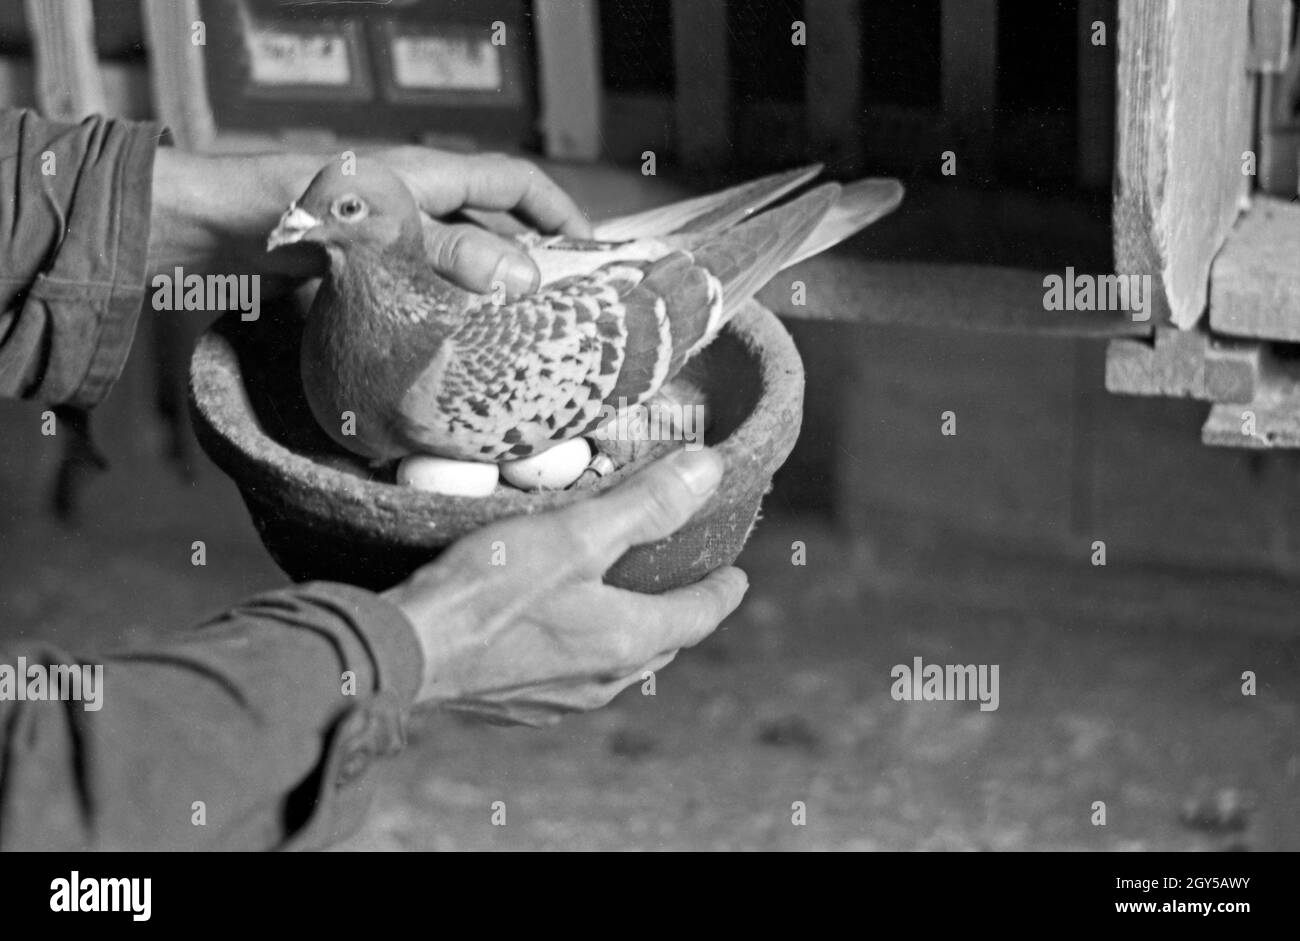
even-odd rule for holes
{"type": "MultiPolygon", "coordinates": [[[[204,451],[239,486],[263,543],[294,581],[382,590],[494,520],[538,513],[615,486],[484,498],[442,496],[376,478],[317,428],[298,378],[302,315],[291,304],[238,312],[203,335],[190,364],[190,411],[204,451]]],[[[606,581],[656,593],[734,561],[772,474],[798,437],[803,365],[785,328],[748,305],[688,367],[707,396],[706,442],[727,461],[722,486],[682,529],[628,551],[606,581]]]]}

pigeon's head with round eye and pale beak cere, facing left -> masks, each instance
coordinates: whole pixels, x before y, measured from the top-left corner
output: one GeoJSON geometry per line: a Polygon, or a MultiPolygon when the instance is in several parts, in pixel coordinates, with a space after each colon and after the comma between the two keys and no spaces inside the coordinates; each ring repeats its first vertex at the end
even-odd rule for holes
{"type": "Polygon", "coordinates": [[[354,247],[384,251],[403,238],[419,239],[420,225],[415,196],[390,169],[332,160],[280,217],[266,251],[296,243],[317,244],[330,256],[354,247]]]}

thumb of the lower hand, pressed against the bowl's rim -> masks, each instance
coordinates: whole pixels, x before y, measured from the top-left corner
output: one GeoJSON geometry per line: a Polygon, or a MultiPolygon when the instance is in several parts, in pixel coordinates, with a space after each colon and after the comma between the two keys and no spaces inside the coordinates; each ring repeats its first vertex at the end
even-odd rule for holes
{"type": "Polygon", "coordinates": [[[559,511],[555,522],[571,571],[599,577],[632,546],[681,529],[718,489],[723,470],[716,451],[682,450],[601,496],[559,511]]]}

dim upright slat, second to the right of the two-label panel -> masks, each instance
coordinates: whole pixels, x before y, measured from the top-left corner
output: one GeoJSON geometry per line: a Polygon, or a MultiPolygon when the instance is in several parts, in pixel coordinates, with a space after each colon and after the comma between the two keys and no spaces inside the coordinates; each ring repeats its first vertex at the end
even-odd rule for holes
{"type": "Polygon", "coordinates": [[[672,0],[677,156],[716,166],[731,149],[731,66],[723,0],[672,0]]]}

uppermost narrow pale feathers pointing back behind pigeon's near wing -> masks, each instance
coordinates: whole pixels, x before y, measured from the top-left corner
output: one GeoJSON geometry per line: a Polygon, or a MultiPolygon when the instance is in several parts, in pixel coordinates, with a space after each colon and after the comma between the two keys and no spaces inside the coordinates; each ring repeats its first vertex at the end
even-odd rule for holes
{"type": "Polygon", "coordinates": [[[672,234],[707,234],[731,229],[737,222],[793,192],[822,172],[822,164],[775,173],[719,192],[647,209],[634,216],[602,222],[595,237],[602,242],[662,238],[672,234]]]}

